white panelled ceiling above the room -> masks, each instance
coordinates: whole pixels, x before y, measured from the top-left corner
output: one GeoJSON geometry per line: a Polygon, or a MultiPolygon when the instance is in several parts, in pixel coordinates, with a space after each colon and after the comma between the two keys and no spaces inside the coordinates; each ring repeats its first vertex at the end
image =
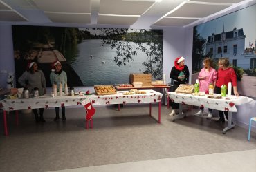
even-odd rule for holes
{"type": "Polygon", "coordinates": [[[185,26],[248,1],[0,0],[0,23],[185,26]]]}

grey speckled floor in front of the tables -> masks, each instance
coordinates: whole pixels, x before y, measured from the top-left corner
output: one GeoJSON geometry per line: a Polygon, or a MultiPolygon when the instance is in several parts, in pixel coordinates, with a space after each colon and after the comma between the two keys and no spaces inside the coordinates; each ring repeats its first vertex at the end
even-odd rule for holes
{"type": "MultiPolygon", "coordinates": [[[[247,130],[241,127],[236,126],[223,135],[221,129],[225,125],[214,120],[188,116],[172,122],[167,116],[170,109],[163,106],[161,110],[161,124],[158,124],[157,106],[153,107],[154,118],[148,116],[148,105],[126,105],[121,111],[110,106],[96,107],[93,129],[89,130],[84,129],[82,108],[67,108],[66,122],[53,122],[55,111],[47,109],[46,123],[37,125],[32,114],[20,114],[20,124],[16,126],[15,115],[9,114],[10,136],[3,136],[3,130],[0,136],[0,171],[114,171],[117,166],[122,171],[138,171],[143,166],[144,171],[154,171],[146,164],[155,163],[159,171],[172,171],[160,166],[179,164],[181,160],[189,164],[192,160],[203,163],[204,158],[213,169],[215,165],[223,165],[222,169],[231,171],[228,159],[222,164],[215,163],[221,161],[218,155],[235,158],[232,162],[236,165],[241,159],[241,165],[250,164],[253,168],[250,161],[255,160],[256,133],[252,133],[248,142],[247,130]],[[208,156],[217,159],[210,162],[208,156]]],[[[187,109],[186,114],[195,111],[187,109]]],[[[183,165],[173,167],[173,171],[186,171],[183,165]]]]}

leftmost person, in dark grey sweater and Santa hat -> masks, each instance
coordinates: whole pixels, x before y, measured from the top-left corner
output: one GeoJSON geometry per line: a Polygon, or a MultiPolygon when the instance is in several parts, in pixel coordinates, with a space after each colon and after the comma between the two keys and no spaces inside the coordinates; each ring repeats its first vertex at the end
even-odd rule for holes
{"type": "MultiPolygon", "coordinates": [[[[28,88],[30,94],[33,94],[33,89],[37,87],[39,89],[39,94],[46,93],[46,78],[42,70],[38,70],[37,63],[30,62],[28,63],[27,70],[24,72],[18,79],[18,82],[22,87],[28,88]]],[[[35,114],[36,122],[46,122],[44,120],[44,108],[39,108],[39,116],[37,109],[32,109],[35,114]]]]}

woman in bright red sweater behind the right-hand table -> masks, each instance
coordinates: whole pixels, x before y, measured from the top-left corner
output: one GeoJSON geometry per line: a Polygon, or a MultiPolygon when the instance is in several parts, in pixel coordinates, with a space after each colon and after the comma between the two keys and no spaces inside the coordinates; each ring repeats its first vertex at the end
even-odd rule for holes
{"type": "MultiPolygon", "coordinates": [[[[228,58],[220,58],[218,65],[218,79],[216,82],[214,93],[221,94],[221,85],[228,85],[228,82],[231,82],[235,96],[239,96],[239,93],[237,92],[237,75],[235,74],[234,69],[229,66],[228,58]]],[[[224,114],[228,119],[228,111],[219,111],[219,120],[217,120],[216,122],[224,123],[224,114]]]]}

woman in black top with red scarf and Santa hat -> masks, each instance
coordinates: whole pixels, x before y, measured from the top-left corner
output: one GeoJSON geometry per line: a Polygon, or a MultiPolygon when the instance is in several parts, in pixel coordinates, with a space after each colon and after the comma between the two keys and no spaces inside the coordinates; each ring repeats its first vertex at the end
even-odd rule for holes
{"type": "MultiPolygon", "coordinates": [[[[174,67],[172,67],[170,78],[174,80],[174,84],[172,86],[172,90],[175,91],[180,84],[188,83],[188,78],[190,76],[190,72],[188,71],[188,67],[184,64],[185,58],[183,56],[178,57],[174,61],[174,67]]],[[[172,102],[172,112],[169,116],[174,116],[179,113],[179,103],[172,102]]]]}

